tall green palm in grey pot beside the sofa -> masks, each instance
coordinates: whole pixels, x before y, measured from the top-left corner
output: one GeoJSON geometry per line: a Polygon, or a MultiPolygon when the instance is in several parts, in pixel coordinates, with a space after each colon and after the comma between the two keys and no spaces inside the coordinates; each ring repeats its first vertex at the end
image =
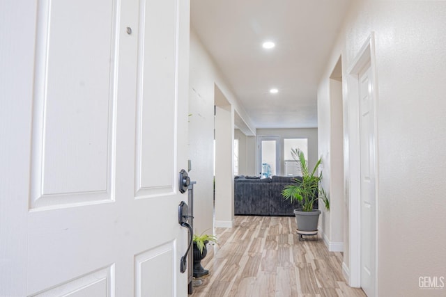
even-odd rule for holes
{"type": "Polygon", "coordinates": [[[300,165],[302,180],[295,179],[294,184],[285,186],[282,190],[282,196],[284,196],[285,200],[290,200],[290,202],[297,200],[302,204],[301,209],[294,209],[298,233],[301,235],[316,234],[321,211],[319,209],[313,209],[314,202],[321,199],[324,202],[325,208],[330,209],[330,202],[328,201],[327,195],[319,184],[322,179],[322,172],[319,175],[314,175],[319,165],[321,165],[322,159],[317,161],[316,166],[310,172],[304,153],[301,150],[292,149],[291,155],[300,165]]]}

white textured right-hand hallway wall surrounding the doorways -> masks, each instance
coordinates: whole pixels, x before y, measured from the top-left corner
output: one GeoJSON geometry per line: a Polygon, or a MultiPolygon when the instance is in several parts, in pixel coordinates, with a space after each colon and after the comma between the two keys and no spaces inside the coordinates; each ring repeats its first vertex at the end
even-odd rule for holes
{"type": "MultiPolygon", "coordinates": [[[[346,70],[374,31],[377,295],[444,296],[446,288],[420,290],[419,278],[446,276],[446,2],[353,3],[320,86],[328,84],[340,55],[346,77],[346,70]]],[[[357,154],[352,151],[356,127],[349,122],[355,115],[355,102],[349,87],[344,79],[346,165],[357,154]]],[[[319,95],[318,104],[329,104],[319,95]]],[[[328,106],[319,106],[318,118],[328,116],[329,111],[328,106]]],[[[357,199],[351,195],[354,179],[350,168],[345,169],[345,194],[351,201],[357,199]]],[[[348,205],[345,210],[350,210],[348,205]]],[[[347,268],[351,267],[348,254],[344,252],[347,268]]]]}

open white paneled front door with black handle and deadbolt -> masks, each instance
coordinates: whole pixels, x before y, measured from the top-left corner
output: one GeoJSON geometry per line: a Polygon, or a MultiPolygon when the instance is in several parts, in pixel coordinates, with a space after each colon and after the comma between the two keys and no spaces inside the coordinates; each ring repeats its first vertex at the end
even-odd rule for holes
{"type": "Polygon", "coordinates": [[[186,296],[189,2],[0,6],[0,296],[186,296]]]}

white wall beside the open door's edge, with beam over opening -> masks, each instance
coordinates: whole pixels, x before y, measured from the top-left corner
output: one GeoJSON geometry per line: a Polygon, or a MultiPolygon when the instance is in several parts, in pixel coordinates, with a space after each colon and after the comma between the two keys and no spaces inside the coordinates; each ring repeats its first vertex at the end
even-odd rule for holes
{"type": "Polygon", "coordinates": [[[192,114],[189,117],[189,158],[192,161],[190,177],[197,181],[194,186],[194,232],[201,233],[213,228],[215,85],[237,111],[247,129],[255,129],[193,29],[190,32],[189,80],[189,113],[192,114]]]}

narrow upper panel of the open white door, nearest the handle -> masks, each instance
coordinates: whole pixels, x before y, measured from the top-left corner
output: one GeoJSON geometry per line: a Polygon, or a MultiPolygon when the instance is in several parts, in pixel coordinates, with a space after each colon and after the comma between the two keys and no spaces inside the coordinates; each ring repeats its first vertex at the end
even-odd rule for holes
{"type": "Polygon", "coordinates": [[[178,0],[166,1],[162,9],[152,7],[153,2],[140,2],[135,198],[175,191],[178,0]]]}

